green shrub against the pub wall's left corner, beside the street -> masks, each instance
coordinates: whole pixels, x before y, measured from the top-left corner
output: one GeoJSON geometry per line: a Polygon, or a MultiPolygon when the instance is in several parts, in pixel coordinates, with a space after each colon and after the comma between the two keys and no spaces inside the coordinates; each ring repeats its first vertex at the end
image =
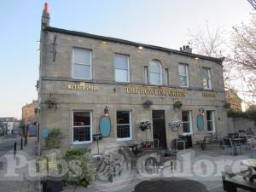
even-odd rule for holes
{"type": "Polygon", "coordinates": [[[60,128],[54,128],[49,131],[48,137],[45,137],[45,147],[48,149],[60,148],[63,134],[60,128]]]}

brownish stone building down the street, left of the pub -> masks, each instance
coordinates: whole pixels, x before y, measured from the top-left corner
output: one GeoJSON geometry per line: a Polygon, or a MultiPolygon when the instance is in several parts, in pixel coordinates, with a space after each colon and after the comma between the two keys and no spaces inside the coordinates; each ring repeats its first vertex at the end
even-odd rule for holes
{"type": "Polygon", "coordinates": [[[27,127],[27,133],[29,137],[35,137],[38,135],[38,101],[33,100],[22,107],[22,122],[27,127]]]}

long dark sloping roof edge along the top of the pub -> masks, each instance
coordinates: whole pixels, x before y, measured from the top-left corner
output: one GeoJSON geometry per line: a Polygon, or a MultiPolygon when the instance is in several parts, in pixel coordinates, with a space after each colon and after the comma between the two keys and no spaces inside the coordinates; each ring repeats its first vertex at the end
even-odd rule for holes
{"type": "Polygon", "coordinates": [[[174,53],[177,55],[186,55],[186,56],[190,56],[190,57],[194,57],[194,58],[197,57],[197,58],[200,58],[203,60],[215,61],[220,64],[224,61],[224,57],[223,58],[214,58],[214,57],[205,56],[205,55],[197,55],[197,54],[193,54],[193,53],[179,51],[176,49],[168,49],[168,48],[159,47],[159,46],[150,45],[150,44],[140,44],[140,43],[136,43],[136,42],[120,39],[120,38],[109,38],[109,37],[94,35],[94,34],[90,34],[90,33],[86,33],[86,32],[69,31],[66,29],[55,28],[55,27],[51,27],[51,26],[44,27],[44,30],[48,31],[48,32],[58,32],[58,33],[79,36],[79,37],[84,37],[84,38],[94,38],[96,40],[108,41],[108,42],[119,43],[119,44],[129,44],[129,45],[132,45],[135,47],[143,46],[143,48],[147,48],[147,49],[160,50],[160,51],[164,51],[164,52],[168,52],[168,53],[174,53]]]}

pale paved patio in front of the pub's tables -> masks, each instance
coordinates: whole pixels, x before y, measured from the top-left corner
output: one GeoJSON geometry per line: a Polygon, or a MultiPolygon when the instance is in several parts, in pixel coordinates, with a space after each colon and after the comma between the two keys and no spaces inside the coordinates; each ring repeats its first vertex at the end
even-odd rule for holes
{"type": "MultiPolygon", "coordinates": [[[[63,192],[132,192],[137,183],[154,177],[185,177],[203,183],[209,192],[224,192],[221,172],[231,166],[235,170],[244,169],[246,167],[241,166],[241,160],[251,157],[252,151],[249,150],[244,150],[243,154],[236,156],[220,153],[218,145],[214,146],[213,144],[212,148],[207,146],[204,151],[201,148],[193,148],[178,154],[177,160],[179,160],[182,168],[177,168],[175,171],[170,172],[170,167],[167,165],[163,172],[155,174],[140,172],[137,174],[136,169],[131,170],[130,167],[126,169],[125,166],[120,176],[113,177],[113,183],[96,179],[96,182],[87,188],[79,186],[75,188],[70,185],[64,187],[63,192]],[[205,164],[201,160],[204,160],[205,164]]],[[[245,190],[238,189],[237,191],[243,192],[245,190]]]]}

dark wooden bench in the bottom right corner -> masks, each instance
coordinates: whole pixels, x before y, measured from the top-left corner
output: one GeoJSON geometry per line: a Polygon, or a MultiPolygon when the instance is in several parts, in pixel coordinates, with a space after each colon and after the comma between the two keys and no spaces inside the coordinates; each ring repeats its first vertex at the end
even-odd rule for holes
{"type": "Polygon", "coordinates": [[[256,191],[256,183],[251,181],[252,172],[244,170],[241,172],[222,172],[223,188],[227,192],[236,192],[237,188],[247,191],[256,191]],[[235,177],[242,177],[243,180],[237,180],[235,177]]]}

